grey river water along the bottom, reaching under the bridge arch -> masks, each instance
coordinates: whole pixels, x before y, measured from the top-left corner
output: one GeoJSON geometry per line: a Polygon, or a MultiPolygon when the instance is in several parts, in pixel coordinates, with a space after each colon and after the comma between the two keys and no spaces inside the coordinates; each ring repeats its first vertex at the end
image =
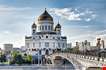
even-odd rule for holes
{"type": "Polygon", "coordinates": [[[64,59],[63,65],[23,65],[23,66],[0,66],[0,70],[75,70],[74,66],[64,59]]]}

